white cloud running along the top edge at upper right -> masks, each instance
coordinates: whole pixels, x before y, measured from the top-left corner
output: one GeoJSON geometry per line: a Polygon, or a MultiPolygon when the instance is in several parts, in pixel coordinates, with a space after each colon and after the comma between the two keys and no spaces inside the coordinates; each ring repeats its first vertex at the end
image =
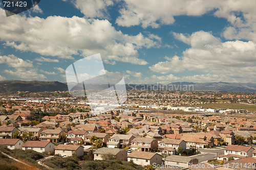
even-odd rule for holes
{"type": "Polygon", "coordinates": [[[158,28],[175,22],[174,16],[201,16],[214,11],[217,17],[226,18],[234,27],[251,26],[255,21],[254,0],[124,0],[125,5],[119,11],[116,23],[119,26],[137,26],[158,28]],[[242,15],[239,15],[240,12],[242,15]]]}

